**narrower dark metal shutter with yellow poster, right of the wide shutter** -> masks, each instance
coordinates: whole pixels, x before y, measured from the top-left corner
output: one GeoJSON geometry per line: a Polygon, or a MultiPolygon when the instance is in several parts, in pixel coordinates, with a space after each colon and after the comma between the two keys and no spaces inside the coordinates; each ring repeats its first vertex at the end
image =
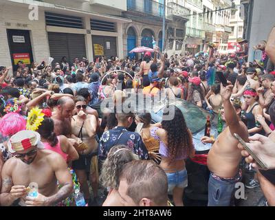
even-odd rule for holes
{"type": "Polygon", "coordinates": [[[106,56],[107,58],[110,58],[111,56],[117,56],[115,36],[94,36],[93,35],[92,41],[93,41],[93,51],[94,51],[94,44],[100,44],[104,47],[104,56],[106,56]],[[107,44],[106,44],[107,42],[110,42],[110,49],[107,49],[107,44]]]}

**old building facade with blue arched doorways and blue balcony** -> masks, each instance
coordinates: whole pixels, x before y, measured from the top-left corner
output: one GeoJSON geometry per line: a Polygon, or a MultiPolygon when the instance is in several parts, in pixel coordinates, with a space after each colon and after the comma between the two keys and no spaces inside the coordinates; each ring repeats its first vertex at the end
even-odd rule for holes
{"type": "MultiPolygon", "coordinates": [[[[162,19],[164,4],[153,0],[127,0],[123,17],[131,19],[131,23],[123,25],[123,54],[124,56],[138,56],[129,54],[137,46],[153,48],[153,39],[162,48],[162,19]]],[[[168,21],[166,21],[168,22],[168,21]]]]}

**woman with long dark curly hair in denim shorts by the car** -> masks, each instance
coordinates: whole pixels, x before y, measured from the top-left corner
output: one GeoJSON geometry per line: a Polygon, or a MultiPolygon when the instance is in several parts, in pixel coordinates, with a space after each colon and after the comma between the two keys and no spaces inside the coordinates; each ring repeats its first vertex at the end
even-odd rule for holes
{"type": "Polygon", "coordinates": [[[192,133],[181,110],[170,106],[168,111],[164,111],[162,129],[155,127],[151,135],[159,140],[159,154],[162,155],[159,166],[168,178],[168,194],[173,195],[175,206],[184,206],[182,196],[188,184],[184,159],[193,157],[195,149],[192,133]],[[172,120],[169,117],[171,113],[174,113],[172,120]]]}

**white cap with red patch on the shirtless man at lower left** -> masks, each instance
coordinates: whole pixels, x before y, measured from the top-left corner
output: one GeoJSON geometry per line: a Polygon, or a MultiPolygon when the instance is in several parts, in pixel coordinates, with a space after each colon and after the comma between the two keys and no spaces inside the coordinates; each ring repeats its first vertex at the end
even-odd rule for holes
{"type": "Polygon", "coordinates": [[[8,141],[8,151],[10,151],[10,153],[25,151],[36,145],[37,148],[45,148],[44,144],[41,142],[39,133],[27,130],[19,131],[10,137],[10,140],[8,141]]]}

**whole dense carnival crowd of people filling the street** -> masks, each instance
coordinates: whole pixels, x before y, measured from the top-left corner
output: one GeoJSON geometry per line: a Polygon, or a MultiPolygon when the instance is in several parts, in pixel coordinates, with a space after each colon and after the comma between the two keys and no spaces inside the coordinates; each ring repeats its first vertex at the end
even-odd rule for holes
{"type": "Polygon", "coordinates": [[[168,109],[153,123],[150,112],[122,107],[129,94],[186,100],[225,122],[216,140],[201,137],[212,144],[208,206],[233,205],[243,171],[245,186],[261,187],[274,206],[275,28],[255,46],[261,60],[249,63],[248,41],[238,42],[241,50],[226,55],[209,43],[208,53],[168,57],[155,47],[140,60],[69,64],[64,56],[53,65],[19,62],[13,73],[0,67],[0,206],[76,206],[79,191],[89,206],[183,206],[186,159],[196,149],[186,115],[172,105],[174,118],[164,117],[168,109]],[[96,108],[108,99],[112,107],[96,108]]]}

